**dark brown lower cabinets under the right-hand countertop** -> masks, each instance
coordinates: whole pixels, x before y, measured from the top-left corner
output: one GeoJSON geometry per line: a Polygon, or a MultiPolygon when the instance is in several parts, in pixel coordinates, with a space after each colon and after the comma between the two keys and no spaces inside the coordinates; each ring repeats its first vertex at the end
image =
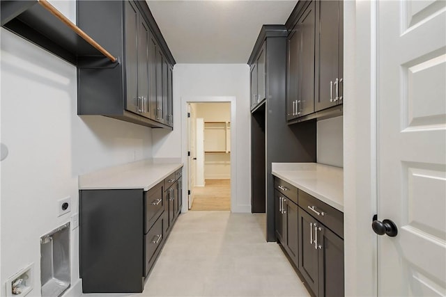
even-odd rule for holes
{"type": "Polygon", "coordinates": [[[300,278],[312,296],[344,296],[344,214],[282,179],[274,184],[275,235],[300,278]]]}

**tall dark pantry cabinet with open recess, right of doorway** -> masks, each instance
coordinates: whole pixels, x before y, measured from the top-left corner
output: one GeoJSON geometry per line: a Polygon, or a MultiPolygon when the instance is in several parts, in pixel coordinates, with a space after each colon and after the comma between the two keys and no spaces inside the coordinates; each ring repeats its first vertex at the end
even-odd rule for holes
{"type": "Polygon", "coordinates": [[[248,65],[251,69],[251,204],[266,212],[267,241],[275,241],[273,162],[316,161],[316,122],[287,125],[284,25],[263,25],[248,65]],[[255,100],[254,100],[255,99],[255,100]]]}

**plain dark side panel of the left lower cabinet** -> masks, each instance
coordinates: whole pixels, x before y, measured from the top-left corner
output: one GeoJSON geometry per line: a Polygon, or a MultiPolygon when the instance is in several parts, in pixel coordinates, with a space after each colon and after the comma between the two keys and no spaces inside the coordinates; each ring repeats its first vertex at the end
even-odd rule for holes
{"type": "Polygon", "coordinates": [[[80,191],[79,219],[84,293],[141,292],[142,189],[80,191]]]}

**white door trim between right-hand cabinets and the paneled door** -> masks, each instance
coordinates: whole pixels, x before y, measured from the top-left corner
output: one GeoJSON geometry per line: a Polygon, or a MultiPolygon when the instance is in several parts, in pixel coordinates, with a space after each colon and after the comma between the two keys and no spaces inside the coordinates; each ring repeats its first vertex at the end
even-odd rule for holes
{"type": "Polygon", "coordinates": [[[346,296],[377,296],[377,2],[344,1],[346,296]],[[359,245],[358,245],[359,244],[359,245]]]}

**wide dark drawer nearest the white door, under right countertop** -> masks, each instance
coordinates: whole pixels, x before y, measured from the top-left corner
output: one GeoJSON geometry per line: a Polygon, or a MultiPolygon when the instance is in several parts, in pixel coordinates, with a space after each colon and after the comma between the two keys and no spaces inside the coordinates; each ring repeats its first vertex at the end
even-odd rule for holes
{"type": "Polygon", "coordinates": [[[299,189],[299,206],[344,239],[344,214],[299,189]]]}

